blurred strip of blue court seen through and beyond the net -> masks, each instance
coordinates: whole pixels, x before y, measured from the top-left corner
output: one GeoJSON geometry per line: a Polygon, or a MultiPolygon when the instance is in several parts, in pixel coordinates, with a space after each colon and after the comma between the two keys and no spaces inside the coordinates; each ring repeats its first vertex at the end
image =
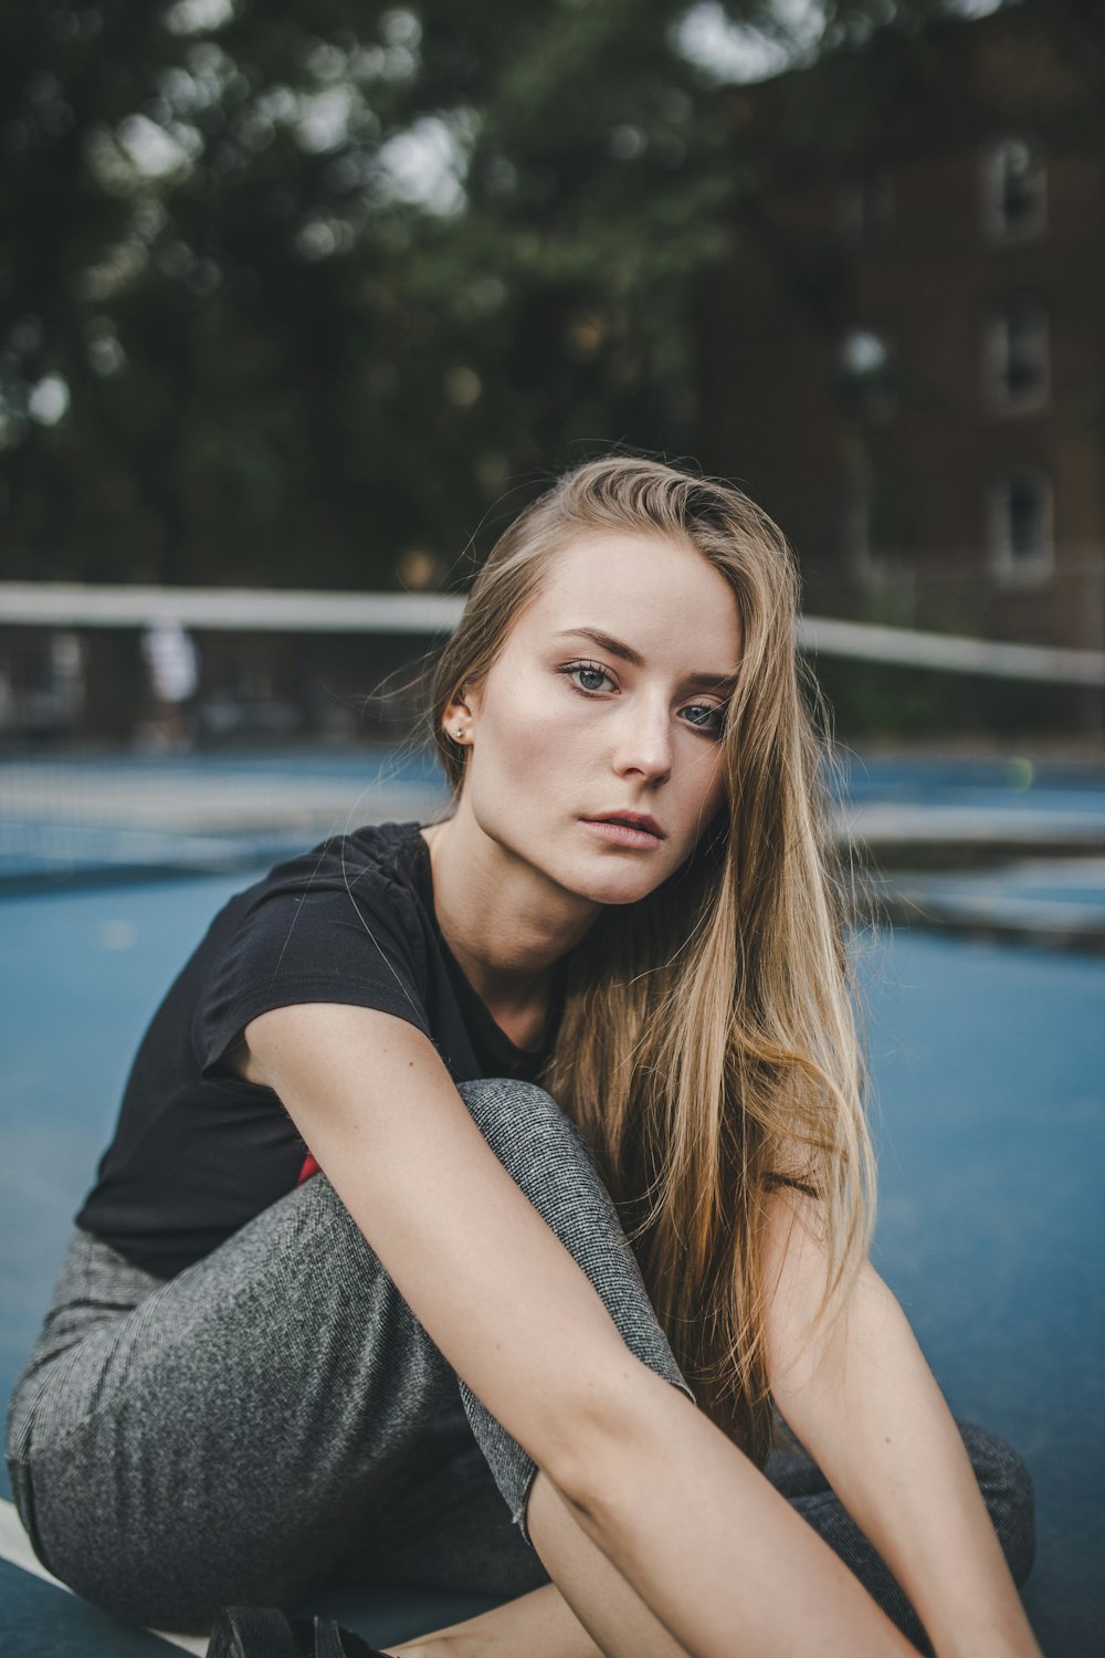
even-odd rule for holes
{"type": "MultiPolygon", "coordinates": [[[[847,754],[830,781],[838,834],[895,867],[1105,851],[1100,761],[847,754]]],[[[411,749],[0,758],[0,887],[245,869],[439,799],[411,749]]]]}

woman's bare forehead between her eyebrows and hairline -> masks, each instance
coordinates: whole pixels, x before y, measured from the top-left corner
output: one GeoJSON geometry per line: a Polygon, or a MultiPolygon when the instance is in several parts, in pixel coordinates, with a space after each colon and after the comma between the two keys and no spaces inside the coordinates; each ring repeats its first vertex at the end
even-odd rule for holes
{"type": "Polygon", "coordinates": [[[517,625],[598,627],[643,650],[683,643],[727,668],[741,655],[741,617],[726,577],[691,544],[659,534],[568,542],[517,625]]]}

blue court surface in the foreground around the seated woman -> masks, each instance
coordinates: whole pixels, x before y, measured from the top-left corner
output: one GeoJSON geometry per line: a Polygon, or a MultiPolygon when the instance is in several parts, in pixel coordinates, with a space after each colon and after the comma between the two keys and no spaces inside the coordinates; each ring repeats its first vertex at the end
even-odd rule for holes
{"type": "MultiPolygon", "coordinates": [[[[1100,774],[1085,793],[1078,811],[1100,812],[1100,774]]],[[[247,879],[10,885],[0,897],[3,1398],[144,1021],[247,879]]],[[[876,1260],[956,1414],[1029,1462],[1039,1559],[1025,1602],[1050,1658],[1085,1658],[1105,1628],[1105,958],[905,930],[861,940],[860,955],[881,1144],[876,1260]]],[[[7,1658],[171,1650],[27,1570],[12,1520],[0,1509],[7,1658]]],[[[320,1598],[376,1643],[480,1605],[320,1598]]]]}

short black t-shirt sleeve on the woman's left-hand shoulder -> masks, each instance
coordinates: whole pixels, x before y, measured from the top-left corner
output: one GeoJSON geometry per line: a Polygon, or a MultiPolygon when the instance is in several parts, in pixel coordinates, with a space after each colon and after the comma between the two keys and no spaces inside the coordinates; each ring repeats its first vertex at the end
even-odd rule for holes
{"type": "Polygon", "coordinates": [[[250,1020],[305,1001],[379,1008],[431,1035],[426,943],[411,894],[379,872],[355,885],[262,884],[227,917],[195,1001],[192,1043],[205,1078],[250,1020]]]}

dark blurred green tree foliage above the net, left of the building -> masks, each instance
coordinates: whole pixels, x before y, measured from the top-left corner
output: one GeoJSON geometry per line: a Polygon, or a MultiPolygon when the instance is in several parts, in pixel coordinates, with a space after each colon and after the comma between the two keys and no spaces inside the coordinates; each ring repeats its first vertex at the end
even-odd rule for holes
{"type": "Polygon", "coordinates": [[[3,0],[3,574],[388,585],[686,454],[739,167],[684,12],[3,0]]]}

